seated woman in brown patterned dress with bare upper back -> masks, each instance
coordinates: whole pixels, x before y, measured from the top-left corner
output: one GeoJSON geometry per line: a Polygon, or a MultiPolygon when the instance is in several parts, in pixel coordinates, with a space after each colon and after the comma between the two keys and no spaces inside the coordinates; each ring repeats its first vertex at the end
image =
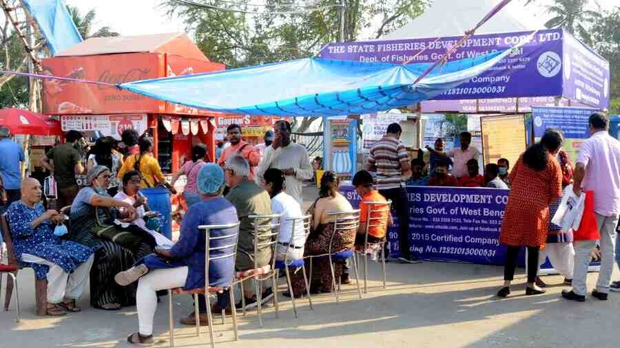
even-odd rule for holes
{"type": "MultiPolygon", "coordinates": [[[[333,171],[326,171],[321,178],[319,198],[310,206],[308,213],[313,216],[312,228],[306,240],[304,256],[327,254],[329,243],[333,234],[333,216],[328,215],[333,211],[352,210],[351,204],[338,193],[340,178],[333,171]]],[[[332,252],[340,251],[353,246],[356,230],[338,231],[333,237],[332,252]]],[[[313,259],[312,283],[310,292],[331,292],[332,278],[329,267],[329,257],[315,257],[313,259]]],[[[309,268],[306,268],[309,270],[309,268]]],[[[342,275],[342,265],[335,265],[336,279],[342,275]]],[[[291,275],[293,295],[303,296],[306,293],[306,284],[303,274],[297,272],[291,275]]],[[[285,292],[285,296],[290,296],[285,292]]]]}

